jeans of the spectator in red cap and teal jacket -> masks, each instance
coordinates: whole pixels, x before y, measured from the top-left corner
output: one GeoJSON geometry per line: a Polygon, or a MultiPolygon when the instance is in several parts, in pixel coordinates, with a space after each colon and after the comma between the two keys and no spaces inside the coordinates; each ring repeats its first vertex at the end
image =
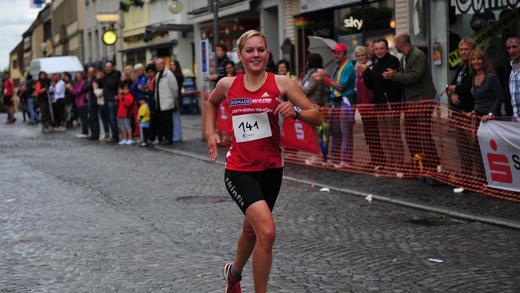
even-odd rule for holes
{"type": "Polygon", "coordinates": [[[347,103],[332,106],[330,121],[330,158],[333,163],[352,163],[354,154],[354,113],[355,108],[347,103]]]}

